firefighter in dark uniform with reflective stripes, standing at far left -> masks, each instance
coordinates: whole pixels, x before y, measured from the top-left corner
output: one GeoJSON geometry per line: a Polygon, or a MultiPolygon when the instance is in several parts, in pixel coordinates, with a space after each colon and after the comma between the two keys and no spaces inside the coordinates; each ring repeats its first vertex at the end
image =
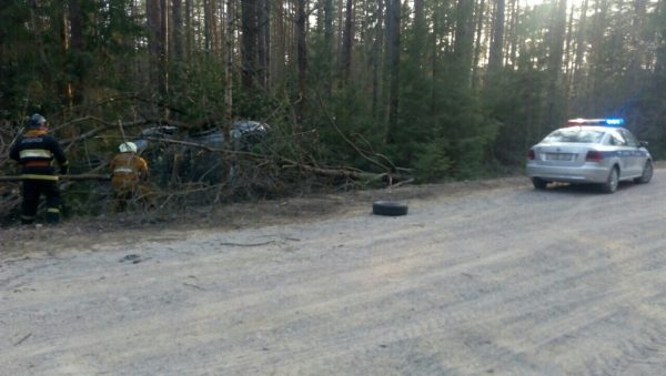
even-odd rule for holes
{"type": "Polygon", "coordinates": [[[47,119],[39,113],[33,114],[26,133],[17,139],[9,151],[9,156],[21,164],[23,224],[34,222],[42,194],[47,197],[47,223],[60,222],[60,189],[53,160],[58,161],[60,173],[63,175],[68,172],[69,162],[58,140],[47,134],[48,131],[47,119]]]}

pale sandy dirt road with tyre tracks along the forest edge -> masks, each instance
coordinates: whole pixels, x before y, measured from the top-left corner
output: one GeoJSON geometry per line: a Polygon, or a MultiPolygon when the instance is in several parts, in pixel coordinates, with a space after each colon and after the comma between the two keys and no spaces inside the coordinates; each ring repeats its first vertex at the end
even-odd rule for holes
{"type": "Polygon", "coordinates": [[[663,374],[666,170],[613,195],[492,186],[4,250],[0,374],[663,374]]]}

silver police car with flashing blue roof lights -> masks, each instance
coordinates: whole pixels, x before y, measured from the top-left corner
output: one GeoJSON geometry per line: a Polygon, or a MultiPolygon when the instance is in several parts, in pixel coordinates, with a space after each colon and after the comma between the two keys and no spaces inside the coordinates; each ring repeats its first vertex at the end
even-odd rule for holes
{"type": "Polygon", "coordinates": [[[551,182],[595,183],[614,193],[619,181],[648,183],[647,143],[624,129],[622,119],[574,119],[529,149],[526,172],[534,187],[551,182]]]}

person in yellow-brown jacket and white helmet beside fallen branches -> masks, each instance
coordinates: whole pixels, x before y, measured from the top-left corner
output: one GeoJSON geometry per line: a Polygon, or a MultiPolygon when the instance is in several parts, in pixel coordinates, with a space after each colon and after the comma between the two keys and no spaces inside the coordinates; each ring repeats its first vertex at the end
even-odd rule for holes
{"type": "Polygon", "coordinates": [[[120,153],[111,160],[111,186],[113,189],[113,210],[122,212],[128,209],[130,201],[149,203],[148,163],[137,155],[137,144],[123,142],[118,148],[120,153]]]}

